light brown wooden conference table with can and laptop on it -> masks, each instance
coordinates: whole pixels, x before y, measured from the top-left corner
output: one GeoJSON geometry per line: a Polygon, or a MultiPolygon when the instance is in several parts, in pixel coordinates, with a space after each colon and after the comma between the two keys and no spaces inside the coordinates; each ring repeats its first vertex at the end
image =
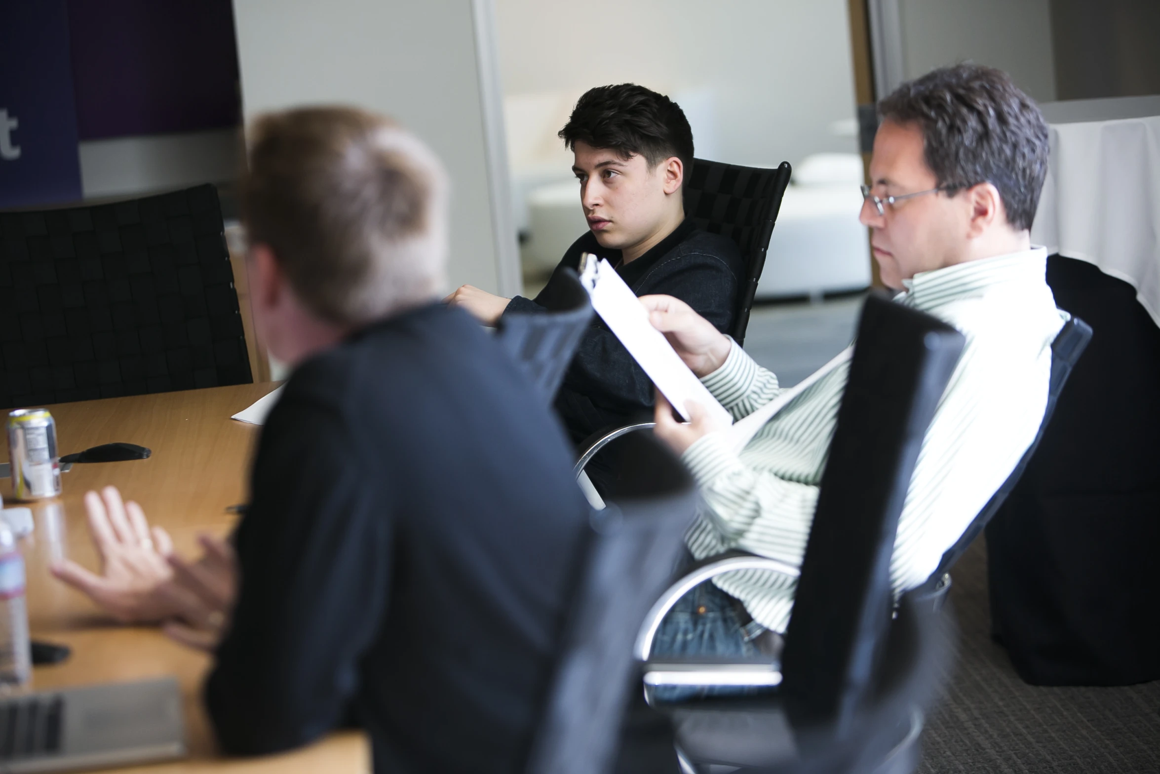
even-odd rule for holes
{"type": "MultiPolygon", "coordinates": [[[[99,567],[82,498],[86,491],[108,484],[119,487],[125,499],[140,502],[150,522],[165,527],[176,549],[186,555],[196,550],[198,533],[226,534],[237,519],[226,513],[226,506],[246,500],[246,472],[259,429],[230,415],[275,386],[242,384],[49,406],[57,420],[61,454],[110,441],[129,441],[153,450],[148,460],[74,465],[63,475],[63,497],[30,504],[36,529],[24,541],[32,637],[72,648],[72,656],[63,664],[35,668],[32,688],[161,675],[175,675],[181,682],[189,757],[126,771],[370,771],[365,737],[354,731],[332,733],[283,755],[219,757],[200,699],[209,656],[173,643],[157,628],[113,622],[87,598],[49,574],[50,562],[60,556],[93,570],[99,567]]],[[[6,506],[16,505],[8,499],[9,485],[2,486],[6,506]]]]}

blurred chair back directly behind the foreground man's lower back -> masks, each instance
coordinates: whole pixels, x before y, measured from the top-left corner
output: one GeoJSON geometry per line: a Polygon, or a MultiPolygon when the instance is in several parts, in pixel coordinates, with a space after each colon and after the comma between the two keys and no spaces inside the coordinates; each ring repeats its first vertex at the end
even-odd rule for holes
{"type": "Polygon", "coordinates": [[[680,461],[652,434],[635,433],[628,443],[630,483],[592,515],[529,774],[609,769],[629,692],[639,689],[632,656],[637,629],[672,579],[695,514],[696,490],[680,461]]]}

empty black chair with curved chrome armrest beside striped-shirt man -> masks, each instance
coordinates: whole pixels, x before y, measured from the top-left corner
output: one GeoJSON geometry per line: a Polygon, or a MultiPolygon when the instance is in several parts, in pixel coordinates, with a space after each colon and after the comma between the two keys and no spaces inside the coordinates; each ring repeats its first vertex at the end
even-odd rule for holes
{"type": "MultiPolygon", "coordinates": [[[[842,740],[877,690],[889,663],[890,560],[898,519],[927,426],[964,342],[929,314],[868,298],[800,572],[753,555],[715,557],[670,586],[650,610],[635,646],[646,694],[660,686],[776,688],[727,710],[712,701],[701,715],[696,706],[674,710],[677,743],[695,769],[780,764],[793,736],[842,740]],[[693,586],[737,570],[798,577],[781,664],[769,658],[650,660],[653,636],[673,603],[693,586]],[[730,724],[756,736],[740,744],[738,735],[724,732],[730,724]]],[[[920,716],[909,717],[900,739],[913,744],[920,724],[920,716]]],[[[893,747],[886,752],[905,758],[893,747]]]]}

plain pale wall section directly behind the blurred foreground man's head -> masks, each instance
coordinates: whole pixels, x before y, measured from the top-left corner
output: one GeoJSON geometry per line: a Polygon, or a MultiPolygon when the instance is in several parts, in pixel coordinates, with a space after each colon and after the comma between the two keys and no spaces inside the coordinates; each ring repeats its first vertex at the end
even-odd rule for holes
{"type": "Polygon", "coordinates": [[[486,0],[234,0],[246,118],[307,103],[396,117],[451,175],[450,287],[513,295],[520,270],[488,14],[486,0]]]}

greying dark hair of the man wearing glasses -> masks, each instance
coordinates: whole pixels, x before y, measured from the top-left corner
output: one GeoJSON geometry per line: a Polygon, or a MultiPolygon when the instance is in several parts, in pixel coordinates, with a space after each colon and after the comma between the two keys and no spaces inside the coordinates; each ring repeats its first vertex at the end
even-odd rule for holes
{"type": "Polygon", "coordinates": [[[1001,70],[942,67],[878,102],[883,120],[922,129],[923,154],[951,196],[989,182],[1007,220],[1030,229],[1047,174],[1047,124],[1035,102],[1001,70]]]}

